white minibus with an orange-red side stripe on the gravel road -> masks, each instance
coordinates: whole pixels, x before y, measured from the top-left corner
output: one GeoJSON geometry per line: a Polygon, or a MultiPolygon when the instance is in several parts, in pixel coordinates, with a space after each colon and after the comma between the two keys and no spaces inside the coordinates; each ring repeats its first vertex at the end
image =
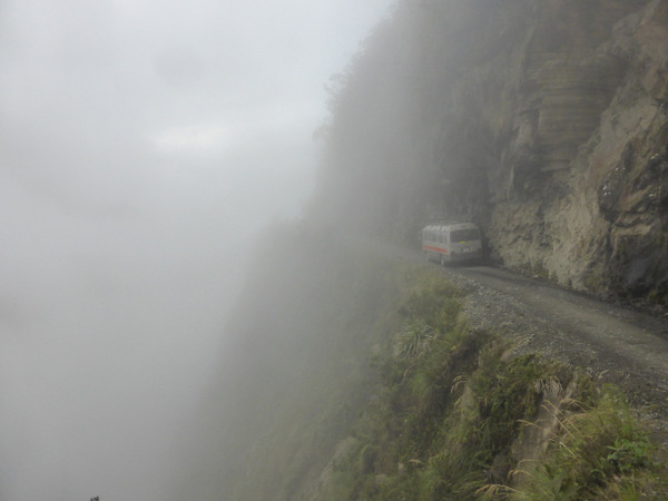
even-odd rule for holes
{"type": "Polygon", "coordinates": [[[422,228],[421,236],[428,261],[444,265],[482,258],[480,230],[473,223],[432,224],[422,228]]]}

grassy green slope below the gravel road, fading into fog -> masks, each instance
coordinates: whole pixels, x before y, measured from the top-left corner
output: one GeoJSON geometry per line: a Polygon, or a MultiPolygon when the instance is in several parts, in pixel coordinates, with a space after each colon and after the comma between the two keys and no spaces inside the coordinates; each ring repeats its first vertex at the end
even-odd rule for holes
{"type": "Polygon", "coordinates": [[[302,225],[267,238],[174,499],[668,493],[618,391],[471,331],[438,268],[302,225]]]}

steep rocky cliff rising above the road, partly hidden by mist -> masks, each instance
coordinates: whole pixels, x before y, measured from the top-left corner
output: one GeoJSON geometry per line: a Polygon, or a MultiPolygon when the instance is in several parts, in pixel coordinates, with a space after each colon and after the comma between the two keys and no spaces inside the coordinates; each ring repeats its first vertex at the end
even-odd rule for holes
{"type": "Polygon", "coordinates": [[[404,2],[334,84],[320,219],[668,303],[668,2],[404,2]]]}

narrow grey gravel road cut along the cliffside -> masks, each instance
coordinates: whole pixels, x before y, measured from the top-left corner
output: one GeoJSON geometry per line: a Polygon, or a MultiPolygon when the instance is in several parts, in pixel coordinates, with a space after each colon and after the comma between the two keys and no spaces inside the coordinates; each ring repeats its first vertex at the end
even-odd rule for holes
{"type": "MultiPolygon", "coordinates": [[[[352,238],[386,257],[424,263],[420,250],[352,238]]],[[[540,353],[601,382],[619,385],[641,418],[666,433],[668,317],[615,305],[491,266],[433,266],[468,292],[473,328],[505,337],[517,353],[540,353]]]]}

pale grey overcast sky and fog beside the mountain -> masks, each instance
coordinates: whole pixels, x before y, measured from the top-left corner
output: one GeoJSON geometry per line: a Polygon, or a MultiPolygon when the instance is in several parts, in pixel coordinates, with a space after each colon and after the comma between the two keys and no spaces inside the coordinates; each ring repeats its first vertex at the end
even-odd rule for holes
{"type": "Polygon", "coordinates": [[[159,500],[243,250],[390,0],[0,1],[0,499],[159,500]]]}

